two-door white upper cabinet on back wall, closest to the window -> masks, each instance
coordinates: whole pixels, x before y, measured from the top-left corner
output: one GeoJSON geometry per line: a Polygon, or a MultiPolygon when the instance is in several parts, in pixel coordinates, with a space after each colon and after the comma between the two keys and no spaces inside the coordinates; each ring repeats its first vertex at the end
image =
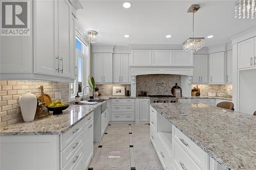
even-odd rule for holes
{"type": "Polygon", "coordinates": [[[112,53],[93,53],[93,77],[95,83],[113,83],[112,53]]]}

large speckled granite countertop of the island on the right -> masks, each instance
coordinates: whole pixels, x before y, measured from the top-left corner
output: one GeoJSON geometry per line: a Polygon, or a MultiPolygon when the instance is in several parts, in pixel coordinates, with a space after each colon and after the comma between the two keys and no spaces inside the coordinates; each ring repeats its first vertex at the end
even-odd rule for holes
{"type": "Polygon", "coordinates": [[[225,169],[256,169],[256,116],[205,104],[151,104],[225,169]]]}

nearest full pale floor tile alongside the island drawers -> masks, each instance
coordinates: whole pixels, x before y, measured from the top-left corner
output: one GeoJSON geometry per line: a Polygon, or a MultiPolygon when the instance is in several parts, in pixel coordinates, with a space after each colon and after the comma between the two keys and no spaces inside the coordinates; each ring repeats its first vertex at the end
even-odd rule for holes
{"type": "Polygon", "coordinates": [[[134,148],[134,159],[136,169],[145,166],[162,166],[153,147],[134,148]]]}

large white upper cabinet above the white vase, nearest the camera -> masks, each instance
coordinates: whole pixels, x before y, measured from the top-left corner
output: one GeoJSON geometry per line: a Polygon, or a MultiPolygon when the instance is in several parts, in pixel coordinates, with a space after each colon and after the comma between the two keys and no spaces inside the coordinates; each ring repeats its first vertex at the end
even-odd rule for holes
{"type": "Polygon", "coordinates": [[[4,79],[72,81],[75,20],[71,4],[51,0],[33,1],[31,6],[31,35],[1,37],[4,79]]]}

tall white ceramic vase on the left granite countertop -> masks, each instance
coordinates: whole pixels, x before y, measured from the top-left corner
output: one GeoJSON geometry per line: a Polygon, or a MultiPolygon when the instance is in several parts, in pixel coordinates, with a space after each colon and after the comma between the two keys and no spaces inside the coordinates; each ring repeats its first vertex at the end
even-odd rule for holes
{"type": "Polygon", "coordinates": [[[22,116],[24,122],[33,121],[35,118],[37,105],[37,98],[32,93],[24,94],[19,100],[20,110],[22,111],[22,116]]]}

